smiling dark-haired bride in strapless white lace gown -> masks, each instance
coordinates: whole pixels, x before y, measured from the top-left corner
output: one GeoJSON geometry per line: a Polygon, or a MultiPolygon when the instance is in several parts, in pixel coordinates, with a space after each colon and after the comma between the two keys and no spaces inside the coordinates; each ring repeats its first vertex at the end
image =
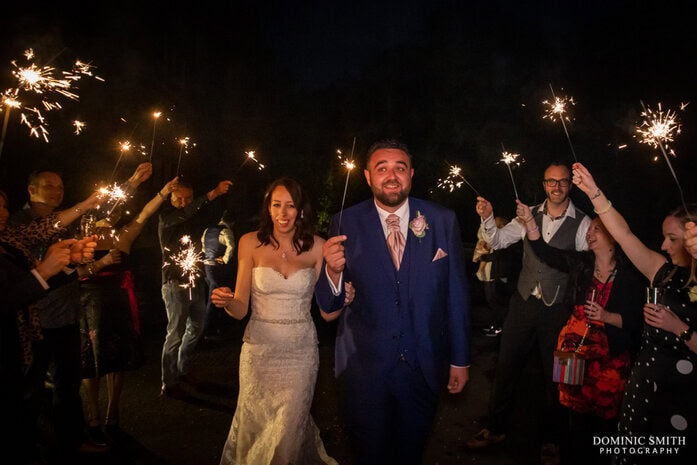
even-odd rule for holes
{"type": "Polygon", "coordinates": [[[211,294],[237,319],[251,299],[237,409],[220,464],[336,465],[310,415],[319,367],[310,307],[324,239],[313,234],[310,201],[293,179],[271,183],[259,217],[259,229],[239,242],[235,292],[211,294]]]}

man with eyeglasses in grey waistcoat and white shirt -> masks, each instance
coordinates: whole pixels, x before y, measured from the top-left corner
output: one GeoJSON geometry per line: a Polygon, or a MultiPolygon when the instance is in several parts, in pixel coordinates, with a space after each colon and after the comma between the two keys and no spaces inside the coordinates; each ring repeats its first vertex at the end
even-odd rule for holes
{"type": "MultiPolygon", "coordinates": [[[[535,222],[535,227],[550,245],[566,250],[587,250],[586,231],[590,218],[569,198],[572,188],[569,167],[560,163],[549,165],[542,186],[547,198],[532,207],[534,219],[530,221],[535,222]]],[[[524,253],[517,292],[511,297],[501,335],[488,423],[466,444],[470,449],[485,449],[505,440],[516,389],[528,356],[536,352],[541,357],[543,379],[539,380],[539,387],[544,393],[541,459],[543,464],[558,463],[563,421],[557,385],[552,381],[552,365],[559,332],[571,311],[571,306],[563,303],[568,274],[537,258],[526,239],[526,225],[522,220],[514,218],[497,228],[493,207],[483,197],[477,197],[476,210],[482,221],[480,232],[493,250],[522,240],[524,253]]]]}

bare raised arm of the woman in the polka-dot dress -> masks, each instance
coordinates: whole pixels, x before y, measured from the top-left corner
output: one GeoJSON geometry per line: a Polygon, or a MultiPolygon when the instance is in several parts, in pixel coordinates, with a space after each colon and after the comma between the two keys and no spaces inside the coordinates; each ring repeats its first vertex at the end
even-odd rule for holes
{"type": "Polygon", "coordinates": [[[666,258],[646,247],[643,242],[632,232],[627,221],[612,206],[603,191],[598,188],[588,169],[581,163],[573,164],[573,182],[581,189],[593,204],[593,209],[605,225],[608,232],[622,246],[625,254],[634,266],[649,281],[653,282],[656,272],[665,264],[666,258]]]}

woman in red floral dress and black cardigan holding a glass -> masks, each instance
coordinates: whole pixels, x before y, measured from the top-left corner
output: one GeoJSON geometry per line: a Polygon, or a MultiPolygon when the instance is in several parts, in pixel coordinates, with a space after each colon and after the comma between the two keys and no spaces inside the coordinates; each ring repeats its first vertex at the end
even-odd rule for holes
{"type": "Polygon", "coordinates": [[[617,417],[641,334],[642,276],[599,218],[586,233],[590,251],[553,247],[541,240],[530,208],[518,201],[518,218],[528,243],[544,263],[569,273],[565,301],[573,313],[559,334],[557,349],[585,359],[582,385],[559,383],[559,400],[568,411],[569,437],[562,463],[610,463],[599,455],[594,436],[617,431],[617,417]]]}

